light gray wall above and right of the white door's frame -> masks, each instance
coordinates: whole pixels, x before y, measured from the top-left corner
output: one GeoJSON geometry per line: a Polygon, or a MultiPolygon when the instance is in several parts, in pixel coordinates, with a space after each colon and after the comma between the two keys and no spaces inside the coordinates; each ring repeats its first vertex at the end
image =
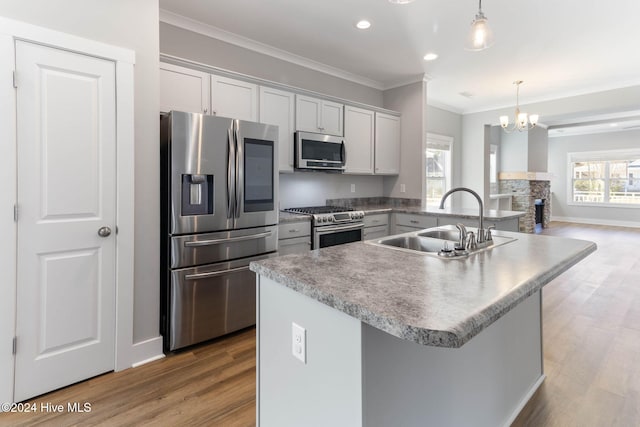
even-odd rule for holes
{"type": "MultiPolygon", "coordinates": [[[[159,151],[156,0],[0,0],[0,15],[125,47],[135,65],[134,342],[158,336],[159,151]]],[[[3,58],[3,60],[7,60],[3,58]]]]}

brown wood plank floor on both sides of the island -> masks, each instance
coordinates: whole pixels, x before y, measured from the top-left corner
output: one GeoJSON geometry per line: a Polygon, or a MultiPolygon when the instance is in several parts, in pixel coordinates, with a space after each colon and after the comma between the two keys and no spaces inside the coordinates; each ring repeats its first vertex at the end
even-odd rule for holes
{"type": "MultiPolygon", "coordinates": [[[[544,288],[547,379],[513,425],[640,426],[640,229],[552,223],[543,234],[598,250],[544,288]]],[[[255,329],[32,402],[91,412],[0,414],[0,426],[255,425],[255,329]]]]}

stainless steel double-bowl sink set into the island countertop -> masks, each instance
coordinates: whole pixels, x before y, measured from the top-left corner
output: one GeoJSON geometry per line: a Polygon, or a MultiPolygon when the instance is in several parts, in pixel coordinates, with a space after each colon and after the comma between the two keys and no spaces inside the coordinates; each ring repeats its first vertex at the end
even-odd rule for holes
{"type": "Polygon", "coordinates": [[[516,240],[512,237],[493,236],[492,241],[478,244],[477,249],[454,249],[458,243],[459,232],[457,229],[449,227],[450,226],[413,231],[385,237],[383,239],[369,240],[366,243],[390,249],[436,256],[438,258],[460,259],[478,252],[491,250],[497,246],[502,246],[516,240]]]}

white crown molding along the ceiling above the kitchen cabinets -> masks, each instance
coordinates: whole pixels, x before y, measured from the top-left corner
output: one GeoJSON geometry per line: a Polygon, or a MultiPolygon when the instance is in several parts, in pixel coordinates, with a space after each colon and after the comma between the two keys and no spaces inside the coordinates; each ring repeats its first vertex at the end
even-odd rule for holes
{"type": "Polygon", "coordinates": [[[317,62],[312,59],[305,58],[303,56],[299,56],[264,43],[260,43],[253,39],[239,36],[238,34],[225,31],[223,29],[202,23],[200,21],[196,21],[195,19],[178,15],[165,9],[160,9],[160,22],[164,22],[165,24],[173,25],[174,27],[202,34],[204,36],[211,37],[225,43],[233,44],[244,49],[261,53],[263,55],[268,55],[282,61],[290,62],[301,67],[319,71],[321,73],[328,74],[330,76],[357,83],[363,86],[371,87],[377,90],[385,89],[385,86],[377,80],[368,79],[366,77],[362,77],[348,71],[341,70],[339,68],[332,67],[330,65],[323,64],[321,62],[317,62]]]}

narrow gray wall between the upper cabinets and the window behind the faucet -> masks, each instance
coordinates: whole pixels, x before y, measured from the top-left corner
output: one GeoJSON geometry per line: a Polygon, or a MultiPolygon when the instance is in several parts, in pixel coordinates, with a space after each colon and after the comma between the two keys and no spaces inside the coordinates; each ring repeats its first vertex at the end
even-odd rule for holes
{"type": "Polygon", "coordinates": [[[384,108],[402,113],[400,123],[400,175],[384,178],[384,195],[410,199],[422,198],[422,154],[426,139],[426,90],[423,81],[384,92],[384,108]],[[406,192],[400,192],[405,184],[406,192]]]}

